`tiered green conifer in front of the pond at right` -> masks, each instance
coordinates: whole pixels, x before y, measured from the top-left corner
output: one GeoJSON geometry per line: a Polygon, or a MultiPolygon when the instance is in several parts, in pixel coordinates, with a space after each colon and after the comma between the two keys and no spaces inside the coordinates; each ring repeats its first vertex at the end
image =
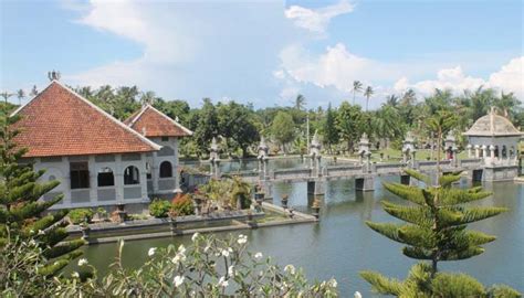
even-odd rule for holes
{"type": "MultiPolygon", "coordinates": [[[[442,132],[451,127],[451,118],[440,114],[431,121],[440,143],[442,132]]],[[[426,174],[405,170],[411,179],[423,182],[425,188],[384,183],[389,192],[408,202],[406,205],[382,201],[384,210],[406,223],[366,222],[379,234],[405,244],[404,255],[430,263],[415,265],[404,281],[389,279],[375,272],[363,272],[360,275],[371,284],[374,290],[399,297],[520,297],[517,291],[505,286],[485,289],[468,275],[438,272],[439,262],[460,260],[482,254],[482,245],[493,242],[495,236],[465,230],[467,225],[499,215],[506,209],[464,205],[485,199],[491,193],[481,187],[452,188],[460,180],[460,172],[441,175],[439,164],[437,169],[437,183],[426,174]]]]}

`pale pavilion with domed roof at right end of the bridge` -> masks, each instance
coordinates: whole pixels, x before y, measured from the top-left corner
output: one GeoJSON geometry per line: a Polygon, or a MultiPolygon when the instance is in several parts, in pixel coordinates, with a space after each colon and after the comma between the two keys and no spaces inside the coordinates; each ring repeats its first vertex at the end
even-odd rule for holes
{"type": "Polygon", "coordinates": [[[494,108],[464,132],[469,156],[483,160],[483,180],[506,180],[517,175],[517,146],[523,135],[507,118],[496,115],[494,108]]]}

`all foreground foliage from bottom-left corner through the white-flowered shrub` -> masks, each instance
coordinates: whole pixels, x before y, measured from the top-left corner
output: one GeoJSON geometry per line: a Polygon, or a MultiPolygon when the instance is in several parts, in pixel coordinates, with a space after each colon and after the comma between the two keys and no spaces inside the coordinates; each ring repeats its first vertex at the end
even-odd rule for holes
{"type": "Polygon", "coordinates": [[[149,248],[149,259],[129,269],[122,263],[122,241],[116,262],[102,278],[84,258],[80,273],[42,276],[41,248],[11,242],[0,256],[0,289],[2,297],[337,297],[335,279],[310,283],[302,269],[281,268],[247,246],[244,235],[218,240],[197,233],[188,247],[149,248]]]}

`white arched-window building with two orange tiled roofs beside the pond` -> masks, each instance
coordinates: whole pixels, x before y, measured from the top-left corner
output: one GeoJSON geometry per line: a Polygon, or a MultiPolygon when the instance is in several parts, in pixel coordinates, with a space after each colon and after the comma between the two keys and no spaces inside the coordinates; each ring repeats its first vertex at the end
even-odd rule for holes
{"type": "Polygon", "coordinates": [[[191,132],[150,106],[120,123],[57,81],[15,111],[27,162],[61,183],[53,207],[148,202],[178,188],[178,138],[191,132]]]}

